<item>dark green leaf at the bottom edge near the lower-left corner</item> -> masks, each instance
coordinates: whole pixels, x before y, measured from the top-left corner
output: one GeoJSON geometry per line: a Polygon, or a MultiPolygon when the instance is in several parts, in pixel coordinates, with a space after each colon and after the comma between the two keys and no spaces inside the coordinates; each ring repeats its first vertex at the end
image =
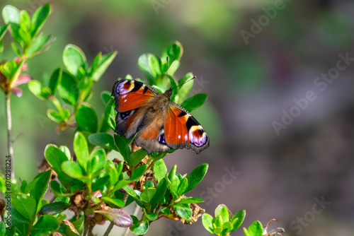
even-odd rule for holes
{"type": "Polygon", "coordinates": [[[31,235],[46,236],[52,234],[59,227],[57,218],[50,215],[40,216],[32,228],[31,235]]]}

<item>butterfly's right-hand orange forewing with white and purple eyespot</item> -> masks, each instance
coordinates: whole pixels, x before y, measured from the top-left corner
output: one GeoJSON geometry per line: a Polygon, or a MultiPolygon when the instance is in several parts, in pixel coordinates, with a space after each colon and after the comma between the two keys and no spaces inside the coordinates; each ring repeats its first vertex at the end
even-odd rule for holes
{"type": "Polygon", "coordinates": [[[169,102],[164,124],[164,138],[166,145],[173,149],[192,148],[195,153],[200,153],[209,147],[209,136],[202,126],[176,102],[169,102]]]}

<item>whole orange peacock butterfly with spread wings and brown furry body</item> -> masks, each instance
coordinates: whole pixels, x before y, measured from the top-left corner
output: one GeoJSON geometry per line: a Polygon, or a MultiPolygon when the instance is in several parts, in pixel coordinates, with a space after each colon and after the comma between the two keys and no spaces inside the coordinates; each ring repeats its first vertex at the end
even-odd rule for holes
{"type": "Polygon", "coordinates": [[[113,85],[115,132],[134,138],[147,153],[192,148],[200,153],[209,147],[209,136],[181,105],[170,100],[172,88],[161,94],[145,83],[120,80],[113,85]]]}

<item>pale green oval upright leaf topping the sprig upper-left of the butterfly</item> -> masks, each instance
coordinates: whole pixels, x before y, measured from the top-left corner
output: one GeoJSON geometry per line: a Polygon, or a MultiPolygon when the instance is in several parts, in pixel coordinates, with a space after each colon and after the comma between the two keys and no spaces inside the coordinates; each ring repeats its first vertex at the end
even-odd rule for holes
{"type": "Polygon", "coordinates": [[[80,75],[79,69],[84,69],[87,63],[84,52],[76,45],[67,45],[64,48],[63,61],[67,70],[76,77],[80,75]]]}

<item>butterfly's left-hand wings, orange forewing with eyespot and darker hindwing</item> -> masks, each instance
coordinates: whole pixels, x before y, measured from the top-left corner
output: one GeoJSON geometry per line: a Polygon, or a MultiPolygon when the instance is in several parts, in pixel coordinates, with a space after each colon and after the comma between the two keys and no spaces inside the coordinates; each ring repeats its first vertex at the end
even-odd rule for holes
{"type": "Polygon", "coordinates": [[[112,95],[117,111],[115,132],[131,138],[144,120],[146,111],[142,107],[159,95],[159,92],[139,81],[121,80],[113,85],[112,95]]]}

